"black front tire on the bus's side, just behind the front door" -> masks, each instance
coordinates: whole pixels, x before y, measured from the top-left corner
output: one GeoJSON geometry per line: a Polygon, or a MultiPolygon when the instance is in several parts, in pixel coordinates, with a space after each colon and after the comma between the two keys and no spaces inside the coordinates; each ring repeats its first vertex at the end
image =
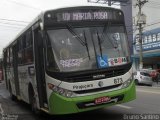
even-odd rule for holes
{"type": "Polygon", "coordinates": [[[29,103],[30,103],[30,107],[31,107],[32,112],[34,114],[39,114],[39,110],[37,108],[35,92],[33,90],[33,87],[31,87],[31,85],[29,86],[29,103]]]}

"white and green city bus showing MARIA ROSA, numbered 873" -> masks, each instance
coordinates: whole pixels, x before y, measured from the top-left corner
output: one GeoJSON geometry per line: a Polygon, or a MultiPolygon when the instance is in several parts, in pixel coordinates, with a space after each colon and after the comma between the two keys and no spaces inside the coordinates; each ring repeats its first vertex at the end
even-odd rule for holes
{"type": "Polygon", "coordinates": [[[46,10],[3,50],[12,99],[34,112],[79,113],[136,98],[121,10],[70,6],[46,10]]]}

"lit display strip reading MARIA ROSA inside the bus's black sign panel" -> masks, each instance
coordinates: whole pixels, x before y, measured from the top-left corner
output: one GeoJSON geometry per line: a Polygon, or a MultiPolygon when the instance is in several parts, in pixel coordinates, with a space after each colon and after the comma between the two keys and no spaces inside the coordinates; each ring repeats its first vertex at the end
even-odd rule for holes
{"type": "Polygon", "coordinates": [[[94,20],[120,20],[122,13],[117,11],[81,11],[57,13],[57,21],[94,21],[94,20]]]}

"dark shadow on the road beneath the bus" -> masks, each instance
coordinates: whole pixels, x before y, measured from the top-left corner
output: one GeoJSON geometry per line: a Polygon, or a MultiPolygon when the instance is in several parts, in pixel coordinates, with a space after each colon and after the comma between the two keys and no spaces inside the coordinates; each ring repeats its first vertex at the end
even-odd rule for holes
{"type": "Polygon", "coordinates": [[[10,104],[12,104],[11,106],[15,104],[16,108],[12,113],[18,115],[18,120],[123,120],[122,114],[110,111],[107,108],[70,115],[48,115],[43,112],[35,115],[31,112],[30,106],[24,102],[15,101],[12,103],[10,101],[10,104]],[[23,112],[18,113],[20,110],[23,112]]]}

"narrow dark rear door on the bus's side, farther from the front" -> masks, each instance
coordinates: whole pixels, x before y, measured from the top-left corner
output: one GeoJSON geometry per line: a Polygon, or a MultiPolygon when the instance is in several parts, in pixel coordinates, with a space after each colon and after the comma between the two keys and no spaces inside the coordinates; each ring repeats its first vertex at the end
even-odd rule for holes
{"type": "Polygon", "coordinates": [[[20,88],[19,88],[19,79],[18,79],[18,49],[17,43],[15,43],[12,47],[13,50],[13,71],[14,71],[14,82],[15,82],[15,89],[16,95],[20,95],[20,88]]]}

